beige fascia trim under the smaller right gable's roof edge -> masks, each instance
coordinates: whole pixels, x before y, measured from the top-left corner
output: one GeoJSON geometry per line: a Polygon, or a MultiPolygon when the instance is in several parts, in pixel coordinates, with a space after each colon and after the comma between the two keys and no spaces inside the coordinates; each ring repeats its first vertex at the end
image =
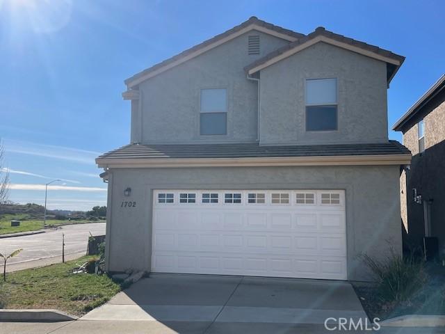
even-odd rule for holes
{"type": "Polygon", "coordinates": [[[401,62],[396,61],[395,59],[392,59],[392,58],[389,58],[386,56],[382,56],[381,54],[376,54],[373,51],[364,50],[360,47],[355,47],[354,45],[349,45],[347,43],[339,42],[338,40],[334,40],[332,38],[328,38],[323,35],[319,35],[319,36],[313,38],[312,40],[308,40],[307,42],[305,42],[301,45],[298,45],[298,47],[294,47],[293,49],[290,49],[290,50],[280,54],[279,56],[269,59],[268,61],[266,61],[266,63],[263,63],[261,65],[258,65],[257,67],[252,68],[251,70],[249,70],[248,73],[254,74],[254,73],[258,72],[259,70],[262,70],[270,65],[273,65],[273,64],[277,63],[278,61],[282,61],[284,58],[287,58],[289,56],[292,56],[293,54],[296,54],[299,51],[307,49],[308,47],[310,47],[318,42],[325,42],[327,44],[334,45],[336,47],[341,47],[343,49],[353,51],[357,54],[362,54],[363,56],[368,56],[370,58],[377,59],[378,61],[384,61],[386,63],[394,64],[397,66],[401,65],[401,62]]]}

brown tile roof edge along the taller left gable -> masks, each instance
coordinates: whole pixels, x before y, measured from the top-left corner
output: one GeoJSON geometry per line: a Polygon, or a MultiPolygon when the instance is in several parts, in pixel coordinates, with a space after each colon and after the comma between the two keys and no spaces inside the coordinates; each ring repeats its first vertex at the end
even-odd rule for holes
{"type": "Polygon", "coordinates": [[[168,58],[165,61],[161,61],[161,63],[157,63],[156,65],[153,65],[152,67],[148,67],[146,70],[143,70],[142,72],[134,74],[132,77],[126,79],[124,81],[124,83],[129,84],[131,81],[134,81],[134,80],[144,76],[145,74],[148,74],[149,72],[153,72],[165,65],[173,63],[174,61],[177,61],[181,58],[184,58],[185,56],[188,56],[188,54],[192,54],[193,52],[195,52],[199,49],[202,49],[203,47],[206,47],[207,45],[211,45],[212,43],[217,42],[218,40],[221,40],[221,39],[227,37],[228,35],[232,35],[232,33],[236,33],[237,31],[240,31],[241,29],[244,29],[245,27],[250,26],[251,24],[256,24],[257,26],[263,26],[266,29],[276,31],[277,33],[282,33],[284,35],[289,35],[293,38],[301,38],[301,37],[305,36],[302,33],[297,33],[296,31],[284,29],[281,26],[275,26],[274,24],[270,24],[266,21],[263,21],[261,19],[258,19],[257,17],[252,16],[247,21],[239,24],[238,26],[234,26],[234,28],[225,31],[224,33],[220,33],[219,35],[216,35],[213,38],[210,38],[209,40],[205,40],[204,42],[202,42],[198,45],[195,45],[194,47],[191,47],[190,49],[186,49],[185,51],[182,51],[180,54],[177,54],[176,56],[172,56],[171,58],[168,58]]]}

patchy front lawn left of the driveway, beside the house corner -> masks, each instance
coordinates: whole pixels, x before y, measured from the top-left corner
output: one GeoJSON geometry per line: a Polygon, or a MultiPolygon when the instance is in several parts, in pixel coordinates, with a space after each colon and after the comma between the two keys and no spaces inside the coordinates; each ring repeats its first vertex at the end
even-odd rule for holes
{"type": "Polygon", "coordinates": [[[120,285],[106,275],[72,273],[77,262],[94,257],[52,264],[48,267],[8,273],[0,282],[0,308],[55,308],[83,315],[120,292],[120,285]]]}

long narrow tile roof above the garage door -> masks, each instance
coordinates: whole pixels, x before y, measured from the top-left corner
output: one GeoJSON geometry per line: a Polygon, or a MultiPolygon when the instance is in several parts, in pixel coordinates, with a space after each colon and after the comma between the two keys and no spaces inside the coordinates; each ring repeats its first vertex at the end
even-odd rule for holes
{"type": "Polygon", "coordinates": [[[258,143],[142,145],[129,144],[102,154],[101,159],[190,159],[248,157],[327,157],[373,154],[410,154],[398,141],[341,145],[280,145],[258,143]]]}

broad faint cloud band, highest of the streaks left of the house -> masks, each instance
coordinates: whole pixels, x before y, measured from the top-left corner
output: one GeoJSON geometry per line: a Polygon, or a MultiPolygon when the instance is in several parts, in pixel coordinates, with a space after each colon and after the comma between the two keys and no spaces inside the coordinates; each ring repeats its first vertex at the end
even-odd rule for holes
{"type": "Polygon", "coordinates": [[[100,152],[81,150],[79,148],[35,144],[27,141],[13,141],[9,139],[4,139],[3,145],[6,152],[74,161],[79,164],[95,164],[95,158],[101,154],[100,152]]]}

